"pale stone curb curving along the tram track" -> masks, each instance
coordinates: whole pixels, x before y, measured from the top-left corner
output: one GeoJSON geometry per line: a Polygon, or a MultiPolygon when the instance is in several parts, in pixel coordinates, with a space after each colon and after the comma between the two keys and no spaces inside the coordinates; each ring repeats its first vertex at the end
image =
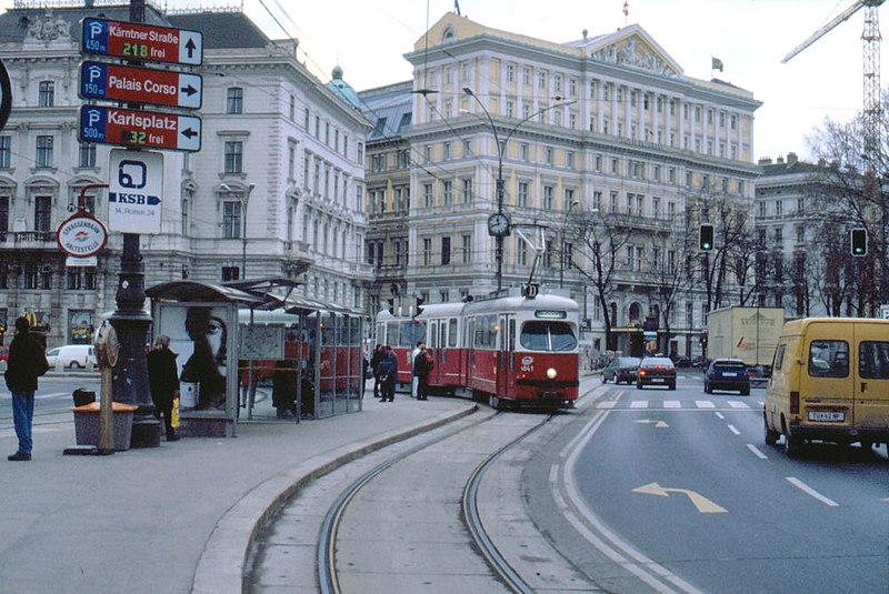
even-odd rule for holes
{"type": "Polygon", "coordinates": [[[257,485],[220,517],[204,544],[194,578],[193,594],[236,594],[244,591],[244,567],[257,534],[287,501],[311,481],[370,452],[431,431],[468,416],[473,404],[440,414],[407,430],[397,430],[367,441],[352,442],[297,464],[257,485]]]}

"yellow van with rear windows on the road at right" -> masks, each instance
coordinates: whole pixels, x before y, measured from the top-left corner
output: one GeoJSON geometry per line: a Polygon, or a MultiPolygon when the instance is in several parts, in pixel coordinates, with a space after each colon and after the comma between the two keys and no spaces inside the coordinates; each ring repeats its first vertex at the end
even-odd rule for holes
{"type": "Polygon", "coordinates": [[[889,320],[807,318],[785,324],[763,411],[766,443],[785,436],[863,447],[889,443],[889,320]]]}

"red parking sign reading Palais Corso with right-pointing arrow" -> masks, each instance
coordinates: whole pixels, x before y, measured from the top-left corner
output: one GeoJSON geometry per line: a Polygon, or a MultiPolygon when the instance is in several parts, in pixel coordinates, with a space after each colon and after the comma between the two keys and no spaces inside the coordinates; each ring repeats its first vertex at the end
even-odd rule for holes
{"type": "Polygon", "coordinates": [[[102,62],[80,64],[83,99],[200,109],[202,81],[200,75],[186,72],[102,62]]]}

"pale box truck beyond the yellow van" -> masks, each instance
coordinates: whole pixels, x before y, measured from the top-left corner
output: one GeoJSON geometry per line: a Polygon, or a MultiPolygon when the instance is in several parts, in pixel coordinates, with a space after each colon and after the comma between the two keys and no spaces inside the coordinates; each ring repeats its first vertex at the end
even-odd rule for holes
{"type": "Polygon", "coordinates": [[[751,368],[762,365],[768,373],[783,325],[781,308],[713,310],[707,315],[707,359],[732,356],[751,368]]]}

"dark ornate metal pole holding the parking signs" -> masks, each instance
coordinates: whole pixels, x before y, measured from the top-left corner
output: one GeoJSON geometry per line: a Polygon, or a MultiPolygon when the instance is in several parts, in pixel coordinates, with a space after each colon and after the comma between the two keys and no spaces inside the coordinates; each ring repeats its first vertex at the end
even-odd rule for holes
{"type": "MultiPolygon", "coordinates": [[[[130,0],[130,20],[144,22],[144,0],[130,0]]],[[[144,311],[143,270],[139,235],[123,233],[123,253],[120,258],[116,295],[117,310],[110,318],[120,350],[111,380],[114,399],[138,406],[133,413],[130,446],[158,447],[160,423],[154,419],[154,404],[148,387],[146,345],[151,315],[144,311]]]]}

